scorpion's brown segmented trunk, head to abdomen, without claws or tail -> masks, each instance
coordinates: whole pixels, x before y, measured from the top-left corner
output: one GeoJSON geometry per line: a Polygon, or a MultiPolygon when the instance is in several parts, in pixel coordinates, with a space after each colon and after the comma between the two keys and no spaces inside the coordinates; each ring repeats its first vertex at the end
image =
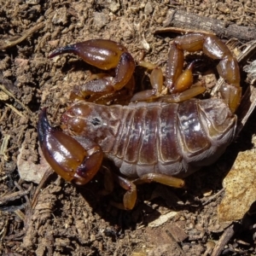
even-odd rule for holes
{"type": "Polygon", "coordinates": [[[126,177],[186,177],[223,154],[236,115],[221,99],[103,106],[76,102],[63,116],[69,132],[89,137],[126,177]]]}

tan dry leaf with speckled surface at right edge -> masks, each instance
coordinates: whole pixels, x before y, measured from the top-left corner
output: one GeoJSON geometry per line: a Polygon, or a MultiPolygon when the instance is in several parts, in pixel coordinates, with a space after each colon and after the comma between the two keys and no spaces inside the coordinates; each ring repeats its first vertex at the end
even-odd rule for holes
{"type": "Polygon", "coordinates": [[[239,153],[234,166],[224,178],[225,195],[218,207],[220,222],[243,218],[256,201],[255,151],[253,148],[239,153]]]}

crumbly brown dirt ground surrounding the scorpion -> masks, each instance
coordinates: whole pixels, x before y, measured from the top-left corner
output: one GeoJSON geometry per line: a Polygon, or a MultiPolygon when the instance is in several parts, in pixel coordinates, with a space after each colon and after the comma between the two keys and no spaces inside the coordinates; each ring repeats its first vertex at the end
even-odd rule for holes
{"type": "MultiPolygon", "coordinates": [[[[145,60],[165,67],[168,45],[178,34],[154,32],[168,25],[173,10],[255,27],[253,0],[0,3],[1,255],[256,255],[255,214],[233,223],[235,235],[212,253],[232,224],[218,223],[222,180],[236,155],[254,147],[256,112],[217,163],[186,179],[186,189],[140,185],[129,212],[111,205],[122,200],[123,189],[98,193],[102,173],[84,187],[53,174],[39,193],[30,179],[48,168],[38,153],[40,109],[47,107],[51,124],[59,125],[71,88],[94,70],[74,55],[48,59],[51,51],[91,38],[113,39],[136,61],[143,51],[145,60]],[[20,179],[18,168],[28,169],[28,177],[20,179]]],[[[237,49],[247,43],[240,39],[237,49]]],[[[137,83],[148,79],[142,68],[136,75],[137,83]]]]}

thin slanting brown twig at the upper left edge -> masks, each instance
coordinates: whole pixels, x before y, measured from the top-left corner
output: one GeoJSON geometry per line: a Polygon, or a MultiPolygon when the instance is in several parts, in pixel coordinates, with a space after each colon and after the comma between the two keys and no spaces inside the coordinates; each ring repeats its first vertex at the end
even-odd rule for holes
{"type": "Polygon", "coordinates": [[[23,40],[28,38],[32,35],[32,33],[37,32],[39,29],[44,27],[44,22],[40,22],[35,26],[32,26],[30,29],[28,29],[26,32],[22,33],[20,36],[15,36],[13,38],[5,39],[3,42],[0,40],[0,50],[2,49],[8,49],[10,47],[13,47],[17,44],[20,44],[23,40]]]}

